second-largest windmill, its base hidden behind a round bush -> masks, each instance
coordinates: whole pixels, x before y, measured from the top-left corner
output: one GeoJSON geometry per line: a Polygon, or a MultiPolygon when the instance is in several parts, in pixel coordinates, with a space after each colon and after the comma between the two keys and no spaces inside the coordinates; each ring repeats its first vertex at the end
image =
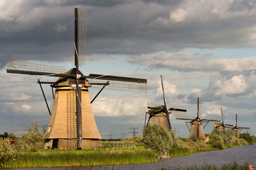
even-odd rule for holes
{"type": "Polygon", "coordinates": [[[171,111],[176,111],[178,113],[183,113],[186,115],[186,110],[180,108],[167,108],[166,107],[166,99],[164,94],[164,82],[163,77],[161,76],[161,87],[163,91],[164,105],[156,105],[154,103],[147,103],[147,108],[149,111],[146,111],[145,114],[145,122],[144,127],[148,127],[149,125],[161,125],[166,130],[171,130],[171,121],[169,115],[171,111]],[[149,119],[146,123],[146,115],[149,114],[149,119]]]}

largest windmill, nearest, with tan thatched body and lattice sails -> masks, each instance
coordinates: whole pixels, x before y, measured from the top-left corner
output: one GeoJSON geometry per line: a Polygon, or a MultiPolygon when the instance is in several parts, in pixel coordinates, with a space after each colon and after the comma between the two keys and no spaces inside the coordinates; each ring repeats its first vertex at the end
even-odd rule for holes
{"type": "MultiPolygon", "coordinates": [[[[64,67],[15,60],[9,60],[7,63],[7,73],[60,77],[55,82],[38,79],[40,86],[50,84],[52,91],[55,88],[53,109],[50,112],[48,108],[50,120],[43,135],[46,140],[45,148],[93,149],[100,147],[101,135],[97,130],[91,103],[102,89],[146,92],[146,79],[101,74],[85,76],[80,72],[79,68],[85,65],[86,25],[87,11],[75,8],[75,68],[68,72],[64,67]],[[90,101],[88,91],[91,86],[101,88],[92,101],[90,101]]],[[[41,90],[43,92],[42,86],[41,90]]],[[[46,100],[45,96],[44,98],[46,100]]]]}

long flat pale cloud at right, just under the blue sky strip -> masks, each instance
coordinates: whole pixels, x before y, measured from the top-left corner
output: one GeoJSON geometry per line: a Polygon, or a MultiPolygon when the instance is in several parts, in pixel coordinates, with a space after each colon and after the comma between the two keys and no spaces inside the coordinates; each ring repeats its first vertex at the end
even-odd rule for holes
{"type": "Polygon", "coordinates": [[[256,69],[256,57],[214,59],[212,54],[157,54],[133,55],[127,59],[155,69],[174,69],[179,72],[220,72],[222,74],[252,72],[256,69]],[[211,56],[211,57],[209,57],[211,56]]]}

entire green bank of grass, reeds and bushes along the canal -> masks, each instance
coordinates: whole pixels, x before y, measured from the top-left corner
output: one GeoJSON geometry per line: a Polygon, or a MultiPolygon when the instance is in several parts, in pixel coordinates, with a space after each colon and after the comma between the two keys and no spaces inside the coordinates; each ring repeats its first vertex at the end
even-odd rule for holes
{"type": "Polygon", "coordinates": [[[44,150],[43,132],[38,122],[34,121],[28,126],[28,132],[16,140],[16,145],[10,145],[9,139],[0,141],[0,168],[142,164],[157,162],[156,155],[181,157],[256,142],[256,138],[247,133],[240,134],[238,139],[230,130],[213,130],[206,137],[208,142],[181,139],[172,130],[152,125],[144,129],[143,137],[100,141],[99,149],[44,150]]]}

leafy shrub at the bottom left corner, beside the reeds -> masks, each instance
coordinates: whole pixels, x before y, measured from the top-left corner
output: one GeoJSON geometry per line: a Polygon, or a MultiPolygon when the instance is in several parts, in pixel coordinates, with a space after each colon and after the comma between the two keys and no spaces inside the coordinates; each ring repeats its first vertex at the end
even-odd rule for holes
{"type": "Polygon", "coordinates": [[[15,148],[8,138],[0,140],[0,168],[15,160],[15,148]]]}

